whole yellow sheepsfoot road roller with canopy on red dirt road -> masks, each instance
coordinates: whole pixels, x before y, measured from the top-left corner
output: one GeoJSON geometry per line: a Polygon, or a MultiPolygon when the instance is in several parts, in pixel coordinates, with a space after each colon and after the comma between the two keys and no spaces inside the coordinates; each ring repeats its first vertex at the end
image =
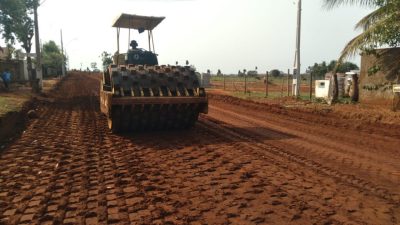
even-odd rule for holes
{"type": "Polygon", "coordinates": [[[121,14],[114,21],[118,50],[100,87],[101,112],[113,133],[188,129],[200,113],[208,112],[207,94],[194,67],[158,64],[153,29],[164,19],[121,14]],[[121,28],[129,29],[129,36],[131,30],[147,31],[149,49],[130,40],[127,53],[121,54],[121,28]]]}

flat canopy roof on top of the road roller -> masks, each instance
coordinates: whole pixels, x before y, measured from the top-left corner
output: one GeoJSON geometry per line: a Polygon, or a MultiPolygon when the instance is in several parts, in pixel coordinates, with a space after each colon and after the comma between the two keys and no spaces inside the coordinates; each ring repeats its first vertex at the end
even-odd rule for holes
{"type": "Polygon", "coordinates": [[[165,17],[139,16],[122,13],[114,22],[113,27],[130,28],[139,31],[153,30],[165,17]]]}

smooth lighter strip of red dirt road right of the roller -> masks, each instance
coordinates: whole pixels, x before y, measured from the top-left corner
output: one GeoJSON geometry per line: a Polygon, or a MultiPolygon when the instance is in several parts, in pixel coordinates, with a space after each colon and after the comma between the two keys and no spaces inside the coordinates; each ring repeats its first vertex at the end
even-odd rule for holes
{"type": "Polygon", "coordinates": [[[314,124],[268,111],[245,110],[241,105],[232,110],[232,105],[220,101],[212,101],[210,109],[212,117],[236,125],[240,120],[245,125],[239,126],[264,136],[264,140],[271,139],[272,145],[368,180],[373,176],[377,183],[398,191],[397,185],[393,185],[400,184],[398,139],[314,124]]]}

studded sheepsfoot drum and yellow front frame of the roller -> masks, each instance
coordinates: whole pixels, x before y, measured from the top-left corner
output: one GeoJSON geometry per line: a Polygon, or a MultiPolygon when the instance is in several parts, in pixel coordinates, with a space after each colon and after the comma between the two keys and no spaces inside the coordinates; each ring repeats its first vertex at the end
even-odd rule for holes
{"type": "Polygon", "coordinates": [[[103,76],[101,111],[113,132],[190,128],[207,113],[190,67],[113,65],[103,76]]]}

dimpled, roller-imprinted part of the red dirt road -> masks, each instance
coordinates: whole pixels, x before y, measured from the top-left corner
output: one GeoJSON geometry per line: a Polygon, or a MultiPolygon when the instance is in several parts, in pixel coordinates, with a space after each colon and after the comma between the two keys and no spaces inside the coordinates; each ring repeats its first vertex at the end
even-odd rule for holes
{"type": "Polygon", "coordinates": [[[0,223],[399,222],[391,193],[274,147],[246,121],[205,116],[187,131],[111,134],[98,87],[72,74],[0,155],[0,223]]]}

